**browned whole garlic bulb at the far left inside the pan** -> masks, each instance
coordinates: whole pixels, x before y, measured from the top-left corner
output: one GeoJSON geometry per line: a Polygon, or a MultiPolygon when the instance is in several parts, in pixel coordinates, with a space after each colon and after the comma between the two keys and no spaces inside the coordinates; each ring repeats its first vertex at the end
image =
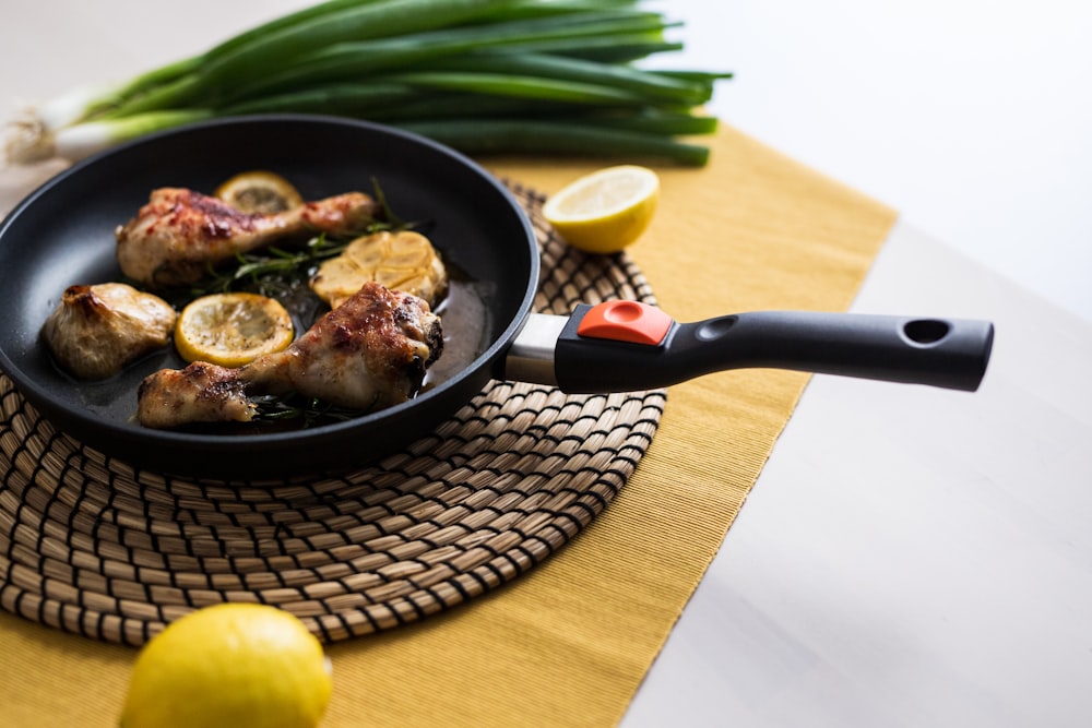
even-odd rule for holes
{"type": "Polygon", "coordinates": [[[123,283],[70,286],[41,335],[57,362],[79,379],[106,379],[170,342],[178,314],[165,300],[123,283]]]}

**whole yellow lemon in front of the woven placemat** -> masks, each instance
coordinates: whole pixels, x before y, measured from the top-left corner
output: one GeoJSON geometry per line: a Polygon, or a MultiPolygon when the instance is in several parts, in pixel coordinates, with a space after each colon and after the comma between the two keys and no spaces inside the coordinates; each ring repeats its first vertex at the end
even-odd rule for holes
{"type": "Polygon", "coordinates": [[[222,604],[153,637],[133,666],[122,728],[311,728],[333,690],[322,644],[266,605],[222,604]]]}

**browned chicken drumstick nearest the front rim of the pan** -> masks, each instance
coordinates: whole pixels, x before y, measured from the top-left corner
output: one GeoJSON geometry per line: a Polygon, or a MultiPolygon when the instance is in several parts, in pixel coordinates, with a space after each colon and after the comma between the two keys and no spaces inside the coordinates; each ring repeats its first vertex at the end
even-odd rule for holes
{"type": "Polygon", "coordinates": [[[417,392],[442,348],[428,303],[368,283],[283,351],[238,369],[194,362],[147,377],[138,419],[159,429],[249,421],[256,408],[248,396],[288,392],[351,409],[389,407],[417,392]]]}

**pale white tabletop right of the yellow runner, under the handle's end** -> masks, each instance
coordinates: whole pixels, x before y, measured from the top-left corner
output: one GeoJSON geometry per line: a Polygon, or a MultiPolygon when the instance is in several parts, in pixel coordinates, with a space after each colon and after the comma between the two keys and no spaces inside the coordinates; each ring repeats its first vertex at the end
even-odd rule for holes
{"type": "Polygon", "coordinates": [[[854,309],[982,387],[812,378],[625,726],[1092,725],[1092,327],[905,224],[854,309]]]}

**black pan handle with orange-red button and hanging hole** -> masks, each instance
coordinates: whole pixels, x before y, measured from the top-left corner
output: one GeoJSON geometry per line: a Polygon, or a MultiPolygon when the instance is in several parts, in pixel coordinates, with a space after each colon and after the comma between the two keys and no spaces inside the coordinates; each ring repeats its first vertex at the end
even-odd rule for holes
{"type": "MultiPolygon", "coordinates": [[[[569,393],[657,389],[740,368],[973,392],[986,372],[994,339],[987,321],[859,313],[759,311],[680,324],[636,301],[581,303],[567,321],[541,319],[530,327],[557,336],[548,367],[553,375],[543,375],[539,365],[530,368],[536,370],[530,381],[557,384],[569,393]]],[[[526,350],[513,345],[517,366],[513,371],[510,353],[509,379],[529,369],[519,361],[526,350]]],[[[542,359],[543,354],[534,356],[542,359]]]]}

